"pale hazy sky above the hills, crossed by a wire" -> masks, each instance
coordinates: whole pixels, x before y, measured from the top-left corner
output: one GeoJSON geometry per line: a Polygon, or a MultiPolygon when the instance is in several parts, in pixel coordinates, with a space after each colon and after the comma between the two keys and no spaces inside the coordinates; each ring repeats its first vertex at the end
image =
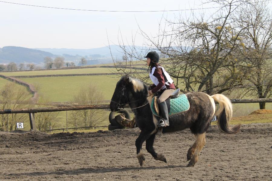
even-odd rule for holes
{"type": "MultiPolygon", "coordinates": [[[[0,0],[1,1],[1,0],[0,0]]],[[[159,11],[201,8],[196,0],[3,0],[20,4],[107,11],[159,11]]],[[[204,6],[205,7],[205,6],[204,6]]],[[[207,7],[207,6],[206,6],[207,7]]],[[[212,11],[212,10],[208,10],[212,11]]],[[[27,48],[98,48],[118,43],[118,31],[131,44],[138,25],[147,34],[158,32],[158,23],[164,14],[173,19],[190,11],[168,12],[93,12],[75,11],[0,2],[0,47],[27,48]],[[136,22],[137,21],[137,22],[136,22]],[[108,32],[108,39],[107,33],[108,32]]],[[[138,30],[139,31],[139,30],[138,30]]],[[[136,45],[143,38],[137,36],[136,45]]]]}

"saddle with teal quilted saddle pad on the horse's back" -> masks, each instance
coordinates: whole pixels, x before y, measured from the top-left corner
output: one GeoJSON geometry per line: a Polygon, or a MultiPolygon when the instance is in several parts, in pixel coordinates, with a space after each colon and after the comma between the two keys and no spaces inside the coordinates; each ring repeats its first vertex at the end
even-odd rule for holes
{"type": "MultiPolygon", "coordinates": [[[[189,110],[190,104],[185,94],[179,94],[180,89],[176,89],[173,94],[165,100],[169,115],[185,112],[189,110]]],[[[155,96],[151,101],[151,110],[155,116],[160,115],[159,104],[157,102],[159,96],[155,96]]]]}

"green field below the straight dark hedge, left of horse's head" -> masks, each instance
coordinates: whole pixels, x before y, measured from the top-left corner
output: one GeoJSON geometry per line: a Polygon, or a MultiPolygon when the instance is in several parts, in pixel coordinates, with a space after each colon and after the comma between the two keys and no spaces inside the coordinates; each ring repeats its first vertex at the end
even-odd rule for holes
{"type": "Polygon", "coordinates": [[[38,93],[49,97],[52,102],[71,101],[81,87],[89,84],[97,85],[104,100],[110,100],[119,79],[115,75],[21,78],[38,87],[38,93]]]}

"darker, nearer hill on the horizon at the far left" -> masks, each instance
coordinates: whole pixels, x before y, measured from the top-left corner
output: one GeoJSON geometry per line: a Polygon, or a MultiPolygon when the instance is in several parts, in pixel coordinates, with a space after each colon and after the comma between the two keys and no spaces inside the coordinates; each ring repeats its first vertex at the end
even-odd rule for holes
{"type": "Polygon", "coordinates": [[[55,57],[50,52],[45,52],[37,49],[29,49],[18,46],[4,46],[0,49],[1,63],[21,63],[21,62],[44,62],[44,57],[55,57]]]}

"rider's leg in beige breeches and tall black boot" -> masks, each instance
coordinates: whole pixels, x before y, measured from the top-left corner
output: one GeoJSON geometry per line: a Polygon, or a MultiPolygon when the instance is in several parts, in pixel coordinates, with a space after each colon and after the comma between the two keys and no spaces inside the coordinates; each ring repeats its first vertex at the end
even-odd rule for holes
{"type": "Polygon", "coordinates": [[[160,106],[160,116],[161,119],[159,120],[158,127],[169,126],[169,115],[168,115],[168,108],[165,100],[174,92],[174,89],[167,89],[160,95],[158,99],[158,103],[160,106]]]}

